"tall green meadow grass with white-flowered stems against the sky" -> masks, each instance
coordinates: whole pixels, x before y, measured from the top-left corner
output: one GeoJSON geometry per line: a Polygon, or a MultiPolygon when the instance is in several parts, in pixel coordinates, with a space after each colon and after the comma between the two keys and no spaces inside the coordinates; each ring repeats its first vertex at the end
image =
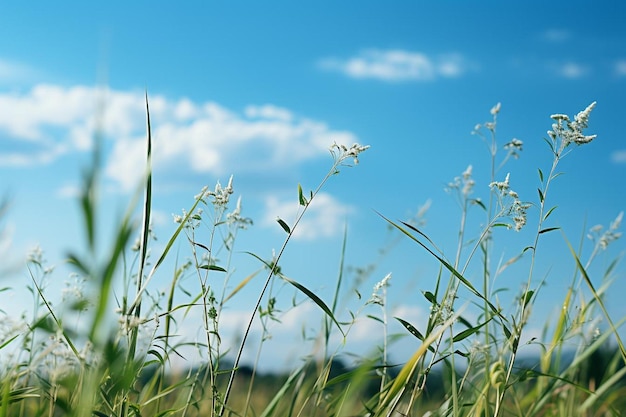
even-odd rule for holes
{"type": "MultiPolygon", "coordinates": [[[[249,253],[258,261],[258,270],[243,277],[233,273],[237,235],[252,222],[243,217],[240,202],[229,211],[232,178],[226,186],[218,183],[213,190],[203,188],[176,218],[178,226],[163,249],[153,253],[152,138],[146,97],[146,175],[106,248],[98,246],[101,150],[96,134],[94,159],[84,174],[79,198],[84,251],[68,255],[77,275],[75,293],[66,308],[56,307],[49,299],[47,283],[54,272],[41,253],[30,257],[32,311],[21,327],[0,328],[0,353],[15,352],[7,355],[0,369],[0,417],[622,415],[626,410],[626,350],[618,329],[626,318],[611,317],[604,304],[611,281],[621,278],[615,276],[618,260],[609,264],[603,276],[590,272],[607,245],[620,237],[621,215],[606,230],[592,230],[594,247],[587,259],[581,259],[582,243],[575,249],[566,231],[554,226],[564,208],[550,204],[551,189],[562,181],[560,161],[569,152],[584,152],[575,148],[595,139],[583,133],[594,105],[573,119],[552,116],[554,124],[545,140],[552,164],[537,169],[534,201],[521,200],[512,189],[515,179],[501,175],[510,159],[520,157],[523,144],[512,140],[500,146],[496,136],[500,105],[491,110],[492,119],[474,132],[488,149],[491,184],[487,198],[474,196],[471,166],[448,186],[460,213],[452,258],[421,230],[419,221],[393,221],[380,214],[381,223],[413,242],[415,251],[427,254],[439,266],[433,287],[416,295],[424,297],[431,312],[427,322],[418,325],[389,317],[391,275],[376,285],[358,310],[346,316],[339,308],[347,293],[367,293],[359,288],[361,280],[348,280],[347,232],[338,254],[332,299],[320,298],[316,288],[285,276],[280,267],[285,248],[318,192],[352,162],[356,165],[366,146],[333,144],[332,164],[319,186],[305,191],[297,185],[298,216],[291,224],[277,219],[277,227],[285,233],[281,248],[272,259],[249,253]],[[133,215],[138,209],[140,219],[133,215]],[[501,253],[495,240],[525,228],[531,215],[537,216],[531,240],[518,255],[496,264],[501,253]],[[470,219],[480,219],[480,232],[475,236],[469,236],[475,230],[468,224],[470,219]],[[136,234],[139,239],[133,245],[131,238],[136,234]],[[529,323],[533,306],[541,302],[542,285],[563,279],[536,277],[538,254],[550,250],[544,244],[548,234],[561,234],[575,273],[559,300],[560,312],[553,322],[546,322],[540,337],[531,339],[529,323]],[[180,244],[188,249],[186,256],[172,250],[180,244]],[[525,260],[520,265],[525,268],[523,286],[512,303],[503,305],[496,278],[521,259],[525,260]],[[164,269],[166,260],[175,265],[171,273],[164,269]],[[479,271],[481,279],[470,279],[470,270],[479,271]],[[154,278],[168,274],[167,289],[157,288],[154,278]],[[230,349],[221,337],[224,308],[260,277],[264,279],[256,306],[249,312],[238,348],[230,349]],[[121,294],[115,290],[119,283],[121,294]],[[288,374],[262,374],[258,358],[264,344],[259,344],[256,363],[242,366],[242,353],[249,347],[253,323],[261,324],[262,340],[280,325],[285,308],[277,290],[281,286],[293,287],[323,313],[315,336],[318,349],[303,355],[300,365],[288,374]],[[352,291],[355,286],[356,292],[352,291]],[[196,309],[202,312],[202,336],[181,340],[178,332],[196,309]],[[372,310],[376,313],[369,313],[372,310]],[[371,357],[346,365],[343,343],[333,340],[339,336],[349,341],[361,318],[383,326],[383,342],[371,357]],[[399,366],[391,366],[388,359],[395,341],[387,332],[390,321],[400,323],[406,335],[419,341],[419,347],[399,366]],[[522,347],[527,345],[535,346],[535,358],[522,357],[522,347]],[[191,350],[204,360],[175,370],[172,361],[191,350]]],[[[0,205],[0,214],[6,215],[6,204],[0,205]]],[[[375,263],[366,266],[361,273],[371,273],[375,267],[375,263]]]]}

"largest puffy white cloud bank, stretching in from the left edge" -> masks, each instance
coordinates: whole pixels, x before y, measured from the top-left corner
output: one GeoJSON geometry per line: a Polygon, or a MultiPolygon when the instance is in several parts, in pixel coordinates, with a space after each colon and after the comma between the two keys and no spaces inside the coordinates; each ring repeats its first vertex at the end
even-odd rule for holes
{"type": "MultiPolygon", "coordinates": [[[[348,131],[299,117],[271,104],[243,113],[215,102],[149,97],[154,169],[231,174],[294,166],[327,154],[336,141],[356,142],[348,131]]],[[[142,92],[41,84],[24,94],[0,93],[0,135],[29,143],[30,152],[0,152],[0,165],[32,166],[88,150],[101,127],[111,142],[106,175],[124,190],[144,170],[145,96],[142,92]]]]}

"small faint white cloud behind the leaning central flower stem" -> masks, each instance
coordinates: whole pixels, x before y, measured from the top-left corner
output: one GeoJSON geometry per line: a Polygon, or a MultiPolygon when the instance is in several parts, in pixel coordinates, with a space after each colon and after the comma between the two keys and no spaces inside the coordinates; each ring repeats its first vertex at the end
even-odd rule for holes
{"type": "MultiPolygon", "coordinates": [[[[270,196],[265,201],[265,216],[262,223],[267,227],[280,228],[276,218],[280,217],[289,226],[293,226],[298,210],[297,201],[293,199],[279,200],[270,196]]],[[[320,237],[330,237],[343,230],[346,216],[354,209],[337,201],[326,193],[319,193],[309,205],[307,213],[294,231],[294,239],[314,240],[320,237]]]]}

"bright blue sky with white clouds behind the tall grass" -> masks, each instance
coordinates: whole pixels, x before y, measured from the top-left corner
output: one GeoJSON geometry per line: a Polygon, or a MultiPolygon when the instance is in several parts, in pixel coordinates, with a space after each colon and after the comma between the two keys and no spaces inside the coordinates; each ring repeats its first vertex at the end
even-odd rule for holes
{"type": "MultiPolygon", "coordinates": [[[[172,214],[189,207],[202,186],[225,184],[233,175],[235,197],[242,197],[244,215],[255,223],[241,233],[237,248],[268,258],[284,238],[276,216],[293,217],[298,183],[308,190],[323,178],[333,141],[370,145],[358,166],[343,169],[324,188],[283,259],[289,276],[329,301],[346,223],[351,266],[378,259],[379,249],[393,241],[376,211],[406,219],[430,201],[424,231],[454,256],[460,211],[444,188],[471,164],[475,196],[487,198],[489,156],[471,132],[491,119],[496,103],[502,103],[500,145],[512,138],[524,142],[521,157],[509,161],[497,179],[510,172],[520,198],[536,202],[537,168],[547,172],[551,163],[543,141],[550,115],[573,116],[597,101],[588,130],[597,139],[562,161],[565,175],[548,196],[549,205],[559,207],[551,225],[577,243],[591,226],[607,227],[626,206],[624,18],[626,6],[608,1],[362,1],[358,7],[76,2],[28,8],[5,2],[0,192],[12,204],[2,219],[3,257],[17,262],[38,244],[57,266],[51,291],[63,287],[64,256],[84,242],[75,195],[90,158],[102,85],[105,235],[141,175],[147,90],[156,248],[175,227],[172,214]]],[[[497,236],[498,256],[508,259],[530,244],[537,216],[531,208],[527,231],[497,236]]],[[[472,219],[468,233],[476,235],[480,220],[472,219]]],[[[562,235],[546,236],[541,244],[536,276],[548,279],[536,314],[546,317],[562,300],[573,266],[562,235]]],[[[587,242],[585,253],[590,248],[587,242]]],[[[598,259],[598,273],[622,249],[621,241],[613,244],[598,259]]],[[[235,282],[257,267],[240,255],[235,282]]],[[[618,271],[622,278],[624,268],[618,271]]],[[[401,240],[360,287],[364,298],[388,272],[389,306],[409,321],[424,320],[420,290],[432,290],[436,263],[401,240]]],[[[168,274],[163,271],[157,284],[166,285],[168,274]]],[[[512,297],[524,279],[520,268],[495,285],[509,288],[512,297]]],[[[28,276],[18,270],[7,281],[14,290],[0,293],[0,305],[22,311],[20,288],[28,276]]],[[[624,282],[618,279],[611,293],[623,294],[624,282]]],[[[251,286],[241,294],[237,308],[249,311],[257,290],[251,286]]],[[[287,307],[292,291],[282,295],[287,307]]],[[[609,306],[618,317],[626,314],[618,297],[609,297],[609,306]]],[[[293,328],[285,325],[276,339],[291,340],[300,318],[313,312],[294,313],[286,321],[293,328]]],[[[363,325],[354,339],[371,339],[379,331],[371,326],[363,325]]],[[[415,348],[414,341],[407,343],[406,350],[415,348]]]]}

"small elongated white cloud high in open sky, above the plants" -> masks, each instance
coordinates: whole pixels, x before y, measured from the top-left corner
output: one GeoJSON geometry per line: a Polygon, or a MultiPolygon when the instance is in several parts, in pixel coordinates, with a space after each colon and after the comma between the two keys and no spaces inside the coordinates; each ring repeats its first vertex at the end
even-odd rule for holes
{"type": "Polygon", "coordinates": [[[319,66],[351,78],[382,81],[430,81],[438,77],[459,77],[468,65],[459,54],[429,57],[421,52],[399,49],[368,49],[348,59],[326,58],[319,66]]]}

